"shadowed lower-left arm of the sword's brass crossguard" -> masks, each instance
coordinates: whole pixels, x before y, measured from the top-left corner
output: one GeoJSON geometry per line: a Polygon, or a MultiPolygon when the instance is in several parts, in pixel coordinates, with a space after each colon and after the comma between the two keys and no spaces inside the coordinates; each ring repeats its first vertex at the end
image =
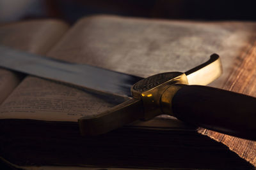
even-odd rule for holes
{"type": "Polygon", "coordinates": [[[142,101],[130,99],[95,117],[81,117],[78,119],[78,123],[83,136],[93,136],[112,131],[113,129],[143,118],[143,116],[142,101]]]}

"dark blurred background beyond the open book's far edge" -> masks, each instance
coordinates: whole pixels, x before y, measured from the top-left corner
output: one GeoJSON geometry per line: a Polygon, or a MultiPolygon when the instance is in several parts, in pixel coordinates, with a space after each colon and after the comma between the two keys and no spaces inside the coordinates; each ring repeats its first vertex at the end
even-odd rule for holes
{"type": "Polygon", "coordinates": [[[253,21],[256,20],[255,8],[256,1],[248,0],[0,0],[0,22],[60,18],[73,24],[78,18],[95,14],[179,20],[253,21]]]}

